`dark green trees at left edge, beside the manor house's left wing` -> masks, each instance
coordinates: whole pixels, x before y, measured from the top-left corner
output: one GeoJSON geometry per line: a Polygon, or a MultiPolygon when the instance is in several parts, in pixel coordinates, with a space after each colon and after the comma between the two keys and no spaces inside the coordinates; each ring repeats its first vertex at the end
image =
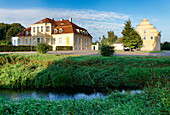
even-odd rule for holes
{"type": "Polygon", "coordinates": [[[25,28],[19,23],[4,24],[0,23],[0,41],[11,42],[11,37],[16,36],[25,28]]]}

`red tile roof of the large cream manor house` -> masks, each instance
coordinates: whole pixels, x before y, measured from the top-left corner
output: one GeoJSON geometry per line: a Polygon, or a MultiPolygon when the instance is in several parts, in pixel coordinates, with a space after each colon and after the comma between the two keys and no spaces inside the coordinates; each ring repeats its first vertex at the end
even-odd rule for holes
{"type": "MultiPolygon", "coordinates": [[[[36,22],[35,24],[38,24],[38,23],[52,23],[55,26],[54,29],[58,30],[57,33],[54,33],[54,29],[53,29],[52,34],[75,33],[75,34],[82,34],[82,35],[85,35],[85,36],[92,37],[86,29],[77,26],[76,24],[70,22],[69,20],[55,21],[55,20],[50,19],[50,18],[45,18],[43,20],[36,22]],[[60,28],[62,28],[62,30],[63,30],[62,33],[59,33],[60,28]],[[87,32],[88,34],[83,34],[81,32],[78,32],[76,29],[83,30],[83,31],[87,32]]],[[[31,27],[29,29],[31,31],[31,27]]],[[[26,36],[26,30],[19,33],[17,36],[26,36]]],[[[30,36],[30,32],[29,32],[29,36],[30,36]]]]}

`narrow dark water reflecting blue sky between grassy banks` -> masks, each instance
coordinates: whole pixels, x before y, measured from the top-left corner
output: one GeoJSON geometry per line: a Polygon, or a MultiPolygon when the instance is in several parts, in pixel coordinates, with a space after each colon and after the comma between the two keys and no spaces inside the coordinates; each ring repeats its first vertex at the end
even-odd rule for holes
{"type": "MultiPolygon", "coordinates": [[[[125,94],[141,93],[141,90],[119,90],[125,94]]],[[[109,95],[107,89],[97,88],[95,91],[93,88],[60,88],[60,89],[27,89],[27,90],[9,90],[0,89],[0,96],[6,97],[12,100],[34,98],[34,99],[48,99],[48,100],[61,100],[61,99],[82,99],[86,98],[91,100],[96,97],[104,98],[109,95]]]]}

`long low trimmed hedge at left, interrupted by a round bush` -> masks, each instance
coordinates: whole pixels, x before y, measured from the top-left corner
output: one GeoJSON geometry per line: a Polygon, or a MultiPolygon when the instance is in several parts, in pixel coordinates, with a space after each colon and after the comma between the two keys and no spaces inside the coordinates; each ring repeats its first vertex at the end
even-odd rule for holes
{"type": "MultiPolygon", "coordinates": [[[[12,52],[12,51],[31,51],[31,46],[0,45],[0,52],[12,52]]],[[[36,46],[32,46],[32,51],[36,51],[36,46]]],[[[52,46],[50,46],[50,51],[52,51],[52,46]]]]}

